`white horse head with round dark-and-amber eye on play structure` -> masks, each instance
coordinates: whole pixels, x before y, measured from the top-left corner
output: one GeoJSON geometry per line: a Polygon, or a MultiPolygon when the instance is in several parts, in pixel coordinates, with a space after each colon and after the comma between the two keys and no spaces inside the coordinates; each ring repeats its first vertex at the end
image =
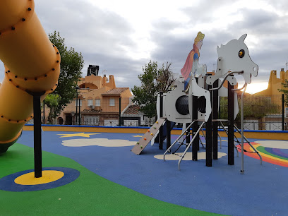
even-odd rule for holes
{"type": "MultiPolygon", "coordinates": [[[[258,65],[255,64],[248,53],[248,48],[244,43],[247,34],[242,35],[239,40],[231,40],[226,45],[217,47],[218,64],[215,76],[210,76],[207,83],[211,85],[218,78],[224,78],[227,73],[234,71],[243,71],[245,83],[251,83],[251,76],[258,75],[258,65]]],[[[231,80],[231,78],[227,78],[231,80]]],[[[230,82],[232,83],[232,82],[230,82]]],[[[235,85],[236,82],[232,85],[235,85]]]]}

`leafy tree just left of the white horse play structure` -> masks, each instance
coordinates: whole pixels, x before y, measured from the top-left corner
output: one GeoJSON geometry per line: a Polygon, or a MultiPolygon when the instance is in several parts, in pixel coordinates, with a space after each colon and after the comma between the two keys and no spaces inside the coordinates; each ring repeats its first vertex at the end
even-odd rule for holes
{"type": "Polygon", "coordinates": [[[133,92],[133,102],[140,105],[140,112],[143,112],[149,118],[157,115],[156,101],[160,91],[167,92],[170,85],[174,82],[173,73],[170,69],[172,63],[162,64],[162,68],[158,68],[157,61],[150,61],[142,68],[143,74],[138,78],[141,86],[131,89],[133,92]]]}

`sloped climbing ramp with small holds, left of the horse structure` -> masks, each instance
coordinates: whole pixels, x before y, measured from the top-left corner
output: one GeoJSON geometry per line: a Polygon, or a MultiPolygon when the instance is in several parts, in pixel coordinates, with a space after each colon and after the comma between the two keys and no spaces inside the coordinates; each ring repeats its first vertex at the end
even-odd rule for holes
{"type": "Polygon", "coordinates": [[[157,135],[157,131],[159,131],[160,127],[165,121],[165,118],[158,119],[155,124],[153,124],[153,126],[142,136],[142,138],[140,138],[136,145],[134,145],[131,151],[136,155],[140,155],[143,149],[148,145],[148,143],[150,143],[152,138],[157,135]]]}

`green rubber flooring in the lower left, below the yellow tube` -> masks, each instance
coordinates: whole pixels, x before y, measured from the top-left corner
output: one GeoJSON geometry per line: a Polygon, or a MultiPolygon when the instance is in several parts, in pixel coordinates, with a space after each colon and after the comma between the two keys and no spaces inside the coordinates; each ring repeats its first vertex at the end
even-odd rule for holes
{"type": "MultiPolygon", "coordinates": [[[[33,149],[14,144],[0,155],[0,179],[34,169],[33,149]]],[[[0,215],[215,215],[144,196],[98,176],[67,157],[42,152],[43,167],[77,169],[76,181],[43,191],[0,190],[0,215]]]]}

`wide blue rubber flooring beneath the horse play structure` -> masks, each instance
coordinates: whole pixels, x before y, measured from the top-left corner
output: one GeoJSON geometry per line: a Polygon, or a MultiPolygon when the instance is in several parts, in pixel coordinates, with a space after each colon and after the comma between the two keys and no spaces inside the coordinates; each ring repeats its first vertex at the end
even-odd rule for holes
{"type": "MultiPolygon", "coordinates": [[[[131,152],[133,146],[66,147],[63,140],[108,138],[109,140],[140,139],[133,133],[100,133],[90,138],[60,138],[57,134],[78,132],[42,132],[42,150],[69,157],[105,179],[131,188],[146,196],[188,208],[224,215],[288,215],[288,169],[244,155],[245,174],[240,174],[241,159],[227,164],[227,155],[205,166],[205,160],[181,162],[154,158],[161,155],[157,143],[150,144],[140,155],[131,152]]],[[[142,134],[138,134],[142,135],[142,134]]],[[[177,136],[172,136],[172,141],[177,136]]],[[[249,139],[251,142],[255,141],[249,139]]],[[[81,140],[79,140],[80,142],[81,140]]],[[[33,147],[33,132],[23,131],[18,143],[33,147]]],[[[164,143],[164,149],[166,143],[164,143]]],[[[182,150],[181,152],[183,152],[182,150]]],[[[190,150],[191,151],[191,150],[190,150]]],[[[200,147],[200,151],[205,151],[200,147]]],[[[219,152],[227,153],[227,141],[219,152]]]]}

